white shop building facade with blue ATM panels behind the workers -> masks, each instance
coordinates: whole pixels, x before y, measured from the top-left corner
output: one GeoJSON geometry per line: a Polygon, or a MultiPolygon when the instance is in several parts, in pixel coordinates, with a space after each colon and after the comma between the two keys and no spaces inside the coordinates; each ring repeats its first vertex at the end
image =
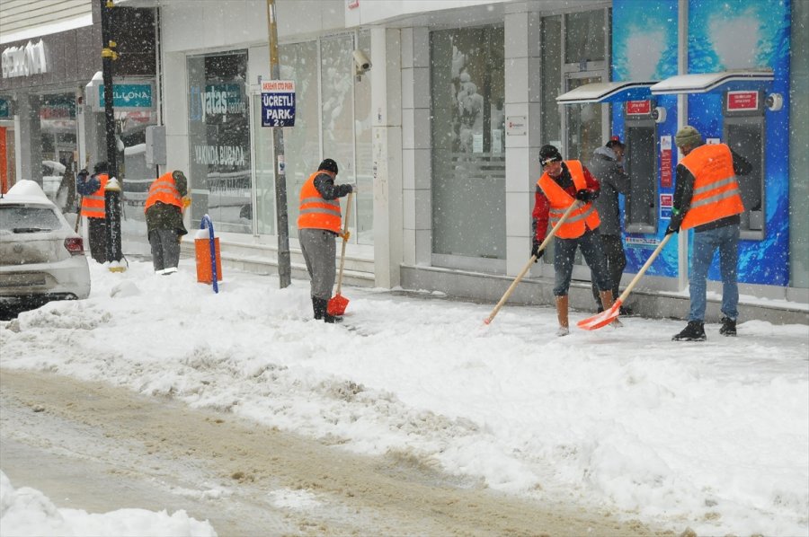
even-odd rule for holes
{"type": "MultiPolygon", "coordinates": [[[[165,128],[164,166],[189,172],[189,224],[209,215],[226,263],[274,271],[274,129],[262,127],[261,84],[271,79],[268,3],[117,4],[155,22],[154,123],[165,128]]],[[[796,128],[809,110],[805,3],[275,4],[280,79],[295,83],[295,126],[283,128],[293,275],[305,276],[298,190],[329,157],[338,181],[360,187],[349,282],[496,301],[529,258],[538,148],[553,143],[586,163],[618,135],[633,177],[622,198],[626,285],[662,240],[681,157],[672,139],[690,124],[755,166],[742,184],[742,319],[807,321],[809,139],[796,128]],[[355,50],[368,71],[356,70],[355,50]]],[[[686,316],[689,244],[680,233],[654,261],[629,300],[639,313],[686,316]]],[[[549,259],[512,302],[553,303],[549,259]]],[[[717,279],[715,267],[709,291],[721,290],[717,279]]],[[[589,286],[578,262],[574,307],[592,309],[589,286]]]]}

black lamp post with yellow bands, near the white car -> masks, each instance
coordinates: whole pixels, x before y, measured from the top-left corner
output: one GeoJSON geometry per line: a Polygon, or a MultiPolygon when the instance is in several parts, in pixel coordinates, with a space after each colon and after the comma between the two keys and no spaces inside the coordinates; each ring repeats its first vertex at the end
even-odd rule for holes
{"type": "Polygon", "coordinates": [[[112,110],[112,61],[118,59],[112,40],[112,0],[100,0],[102,16],[102,80],[104,84],[104,130],[107,137],[107,173],[110,180],[104,189],[104,217],[106,220],[106,258],[112,272],[122,272],[123,257],[120,245],[120,182],[118,180],[118,146],[115,140],[115,113],[112,110]]]}

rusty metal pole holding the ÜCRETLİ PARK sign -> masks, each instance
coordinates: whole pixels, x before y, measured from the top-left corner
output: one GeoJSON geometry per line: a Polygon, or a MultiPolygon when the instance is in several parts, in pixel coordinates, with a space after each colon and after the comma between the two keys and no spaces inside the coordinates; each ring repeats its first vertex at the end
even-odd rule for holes
{"type": "MultiPolygon", "coordinates": [[[[278,28],[275,18],[275,0],[267,0],[267,26],[270,44],[270,77],[280,79],[278,66],[278,28]]],[[[272,145],[275,154],[275,215],[278,225],[278,283],[281,289],[292,285],[292,269],[289,258],[289,214],[287,212],[287,173],[284,163],[284,131],[272,128],[272,145]]]]}

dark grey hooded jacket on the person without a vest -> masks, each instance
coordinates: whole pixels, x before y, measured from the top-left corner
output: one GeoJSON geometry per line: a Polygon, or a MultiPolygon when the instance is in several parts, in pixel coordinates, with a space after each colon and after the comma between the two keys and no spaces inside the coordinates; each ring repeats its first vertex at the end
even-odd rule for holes
{"type": "Polygon", "coordinates": [[[602,235],[620,235],[618,192],[624,195],[629,192],[629,176],[618,163],[615,152],[606,146],[601,146],[593,152],[587,168],[601,183],[601,194],[593,202],[601,218],[599,232],[602,235]]]}

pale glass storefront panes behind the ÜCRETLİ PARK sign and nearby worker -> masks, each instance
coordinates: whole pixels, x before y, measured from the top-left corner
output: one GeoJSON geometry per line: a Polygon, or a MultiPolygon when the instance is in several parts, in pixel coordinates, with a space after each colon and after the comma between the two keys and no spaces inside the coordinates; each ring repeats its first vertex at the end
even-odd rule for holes
{"type": "MultiPolygon", "coordinates": [[[[359,42],[360,47],[369,54],[368,32],[360,34],[359,42]]],[[[359,232],[351,233],[350,241],[372,244],[373,183],[369,76],[364,76],[361,81],[354,79],[351,63],[353,36],[327,38],[320,41],[320,47],[319,66],[318,41],[292,43],[280,47],[280,78],[295,81],[296,93],[295,126],[284,128],[289,236],[298,237],[298,193],[303,183],[309,175],[316,172],[317,164],[322,158],[332,158],[340,167],[340,173],[337,175],[338,183],[356,181],[360,184],[360,193],[355,197],[351,207],[351,230],[359,232]],[[318,86],[318,71],[321,77],[320,86],[318,86]],[[321,101],[322,116],[318,114],[321,101]]],[[[260,114],[259,97],[255,97],[254,106],[255,114],[260,114]]],[[[256,227],[258,233],[274,234],[276,219],[272,129],[260,127],[259,115],[256,116],[255,125],[256,227]]],[[[344,198],[342,202],[345,210],[344,198]]]]}

